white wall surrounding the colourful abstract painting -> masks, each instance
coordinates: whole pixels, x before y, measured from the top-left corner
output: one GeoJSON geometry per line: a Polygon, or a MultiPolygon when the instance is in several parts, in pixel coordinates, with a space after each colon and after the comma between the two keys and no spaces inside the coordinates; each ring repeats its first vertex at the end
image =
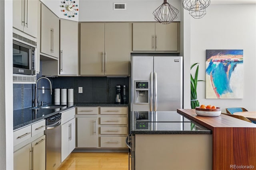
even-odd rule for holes
{"type": "Polygon", "coordinates": [[[190,33],[190,65],[200,63],[198,79],[206,77],[206,49],[244,50],[244,98],[206,99],[205,82],[198,82],[200,104],[215,105],[224,112],[227,107],[256,111],[256,4],[210,5],[202,19],[190,18],[190,30],[186,30],[190,33]]]}

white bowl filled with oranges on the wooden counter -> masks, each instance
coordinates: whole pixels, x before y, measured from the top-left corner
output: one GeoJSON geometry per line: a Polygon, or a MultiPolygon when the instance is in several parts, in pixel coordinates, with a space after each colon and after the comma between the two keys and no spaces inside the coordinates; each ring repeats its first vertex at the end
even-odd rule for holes
{"type": "Polygon", "coordinates": [[[219,116],[221,108],[202,104],[200,107],[196,107],[196,114],[199,116],[219,116]]]}

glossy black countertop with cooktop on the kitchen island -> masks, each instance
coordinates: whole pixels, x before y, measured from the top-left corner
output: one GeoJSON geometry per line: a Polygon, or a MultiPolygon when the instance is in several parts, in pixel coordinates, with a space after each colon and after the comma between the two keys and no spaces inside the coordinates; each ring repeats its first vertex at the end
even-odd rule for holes
{"type": "Polygon", "coordinates": [[[212,134],[212,131],[177,111],[131,111],[130,134],[212,134]]]}

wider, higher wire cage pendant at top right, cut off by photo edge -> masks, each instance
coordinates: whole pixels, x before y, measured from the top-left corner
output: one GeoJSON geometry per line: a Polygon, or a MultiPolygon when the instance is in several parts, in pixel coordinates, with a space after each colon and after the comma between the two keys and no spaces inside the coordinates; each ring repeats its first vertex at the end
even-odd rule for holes
{"type": "Polygon", "coordinates": [[[203,10],[207,8],[211,0],[183,0],[182,6],[185,10],[203,10]]]}

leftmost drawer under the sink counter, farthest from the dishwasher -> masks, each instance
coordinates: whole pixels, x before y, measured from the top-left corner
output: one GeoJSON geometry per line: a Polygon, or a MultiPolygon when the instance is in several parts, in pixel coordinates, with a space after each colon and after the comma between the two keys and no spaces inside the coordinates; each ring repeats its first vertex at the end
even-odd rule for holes
{"type": "Polygon", "coordinates": [[[13,146],[26,141],[31,137],[31,125],[13,132],[13,146]]]}

